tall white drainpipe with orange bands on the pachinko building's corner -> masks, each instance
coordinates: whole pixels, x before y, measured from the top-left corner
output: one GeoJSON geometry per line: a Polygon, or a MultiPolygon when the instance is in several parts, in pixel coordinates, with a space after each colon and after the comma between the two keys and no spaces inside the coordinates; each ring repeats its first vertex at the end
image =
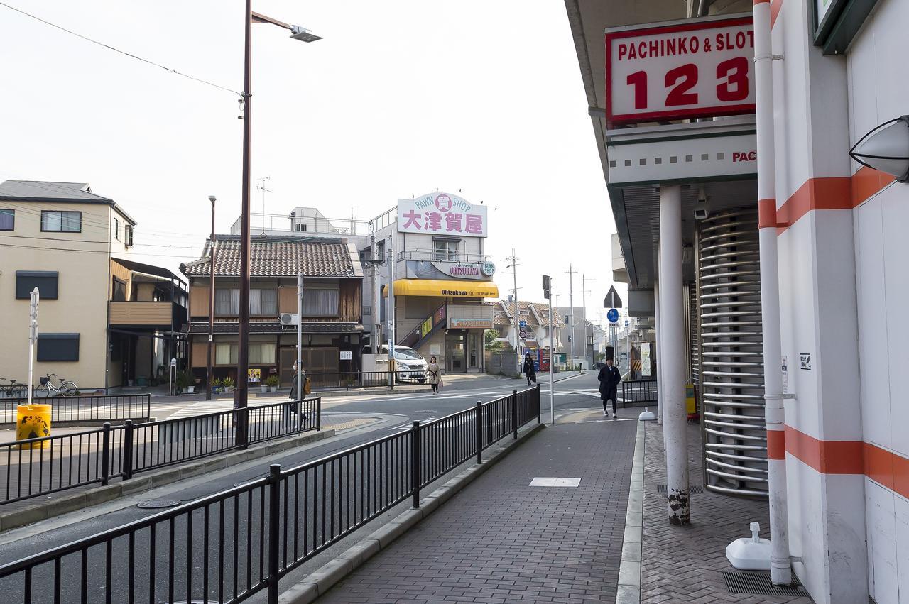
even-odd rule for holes
{"type": "Polygon", "coordinates": [[[783,351],[780,343],[780,284],[776,241],[774,173],[774,74],[770,0],[754,0],[754,80],[757,97],[757,198],[761,245],[761,315],[764,343],[764,417],[770,490],[770,578],[792,583],[786,502],[783,351]]]}

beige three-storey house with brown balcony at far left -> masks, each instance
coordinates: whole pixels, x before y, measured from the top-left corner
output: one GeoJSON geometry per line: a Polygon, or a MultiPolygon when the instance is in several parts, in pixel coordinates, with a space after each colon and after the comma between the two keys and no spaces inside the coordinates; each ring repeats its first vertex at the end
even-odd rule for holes
{"type": "Polygon", "coordinates": [[[135,220],[86,183],[0,183],[0,377],[27,381],[35,287],[35,384],[55,373],[107,391],[151,381],[179,356],[185,285],[130,260],[134,233],[135,220]]]}

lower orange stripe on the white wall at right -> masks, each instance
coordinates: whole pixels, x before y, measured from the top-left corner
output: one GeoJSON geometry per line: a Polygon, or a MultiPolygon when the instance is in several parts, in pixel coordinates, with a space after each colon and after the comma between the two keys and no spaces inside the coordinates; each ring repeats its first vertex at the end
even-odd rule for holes
{"type": "MultiPolygon", "coordinates": [[[[767,457],[775,460],[779,437],[767,431],[767,457]],[[774,451],[772,453],[771,451],[774,451]]],[[[909,459],[862,441],[818,441],[786,426],[785,451],[822,474],[864,474],[909,499],[909,459]]]]}

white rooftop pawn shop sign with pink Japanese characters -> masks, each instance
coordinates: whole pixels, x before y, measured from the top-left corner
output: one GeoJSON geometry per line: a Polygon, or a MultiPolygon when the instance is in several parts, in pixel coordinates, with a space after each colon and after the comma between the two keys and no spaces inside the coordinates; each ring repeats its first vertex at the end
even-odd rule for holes
{"type": "Polygon", "coordinates": [[[486,206],[474,205],[451,193],[429,193],[399,199],[398,233],[430,233],[485,237],[486,206]]]}

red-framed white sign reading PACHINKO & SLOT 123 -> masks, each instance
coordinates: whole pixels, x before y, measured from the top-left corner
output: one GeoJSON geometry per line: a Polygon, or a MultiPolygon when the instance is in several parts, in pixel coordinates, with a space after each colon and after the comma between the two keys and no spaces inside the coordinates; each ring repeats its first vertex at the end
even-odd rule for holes
{"type": "Polygon", "coordinates": [[[750,15],[606,29],[606,120],[754,113],[750,15]]]}

